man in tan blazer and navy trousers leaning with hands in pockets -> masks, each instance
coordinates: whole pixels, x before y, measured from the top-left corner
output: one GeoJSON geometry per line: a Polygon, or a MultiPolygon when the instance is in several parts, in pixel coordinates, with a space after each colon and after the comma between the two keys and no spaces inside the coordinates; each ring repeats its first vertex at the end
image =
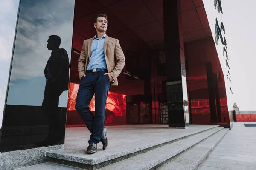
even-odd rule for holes
{"type": "Polygon", "coordinates": [[[125,65],[125,56],[119,40],[106,35],[108,17],[99,14],[95,18],[96,35],[84,40],[78,59],[78,73],[81,83],[76,98],[76,111],[90,131],[87,153],[97,152],[101,141],[103,150],[108,145],[107,130],[104,128],[105,106],[110,85],[118,85],[117,77],[125,65]],[[116,64],[115,64],[116,59],[116,64]],[[95,94],[95,116],[88,105],[95,94]]]}

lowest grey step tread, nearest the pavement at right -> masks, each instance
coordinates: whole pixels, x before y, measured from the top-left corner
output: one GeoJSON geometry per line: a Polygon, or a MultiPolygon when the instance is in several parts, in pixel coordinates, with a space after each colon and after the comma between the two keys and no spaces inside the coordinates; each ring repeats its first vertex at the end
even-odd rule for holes
{"type": "Polygon", "coordinates": [[[196,170],[229,129],[222,129],[157,170],[196,170]]]}

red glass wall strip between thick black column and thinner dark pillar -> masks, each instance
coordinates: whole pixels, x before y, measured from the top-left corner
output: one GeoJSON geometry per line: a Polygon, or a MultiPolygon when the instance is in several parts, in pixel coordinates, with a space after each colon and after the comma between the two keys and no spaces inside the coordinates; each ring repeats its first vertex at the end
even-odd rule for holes
{"type": "MultiPolygon", "coordinates": [[[[184,36],[185,39],[186,36],[184,36]]],[[[205,53],[205,51],[209,49],[207,47],[207,41],[205,39],[186,42],[186,56],[188,61],[188,72],[186,77],[190,94],[189,104],[192,113],[192,124],[211,123],[205,65],[205,58],[209,55],[205,53]],[[200,53],[198,53],[198,51],[200,51],[200,53]]]]}

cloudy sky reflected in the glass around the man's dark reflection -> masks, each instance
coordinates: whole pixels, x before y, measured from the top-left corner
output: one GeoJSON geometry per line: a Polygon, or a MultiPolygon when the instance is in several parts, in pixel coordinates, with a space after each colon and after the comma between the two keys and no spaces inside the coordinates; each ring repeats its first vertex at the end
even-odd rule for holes
{"type": "MultiPolygon", "coordinates": [[[[50,35],[61,37],[60,48],[71,56],[73,0],[22,0],[8,92],[8,105],[41,106],[46,79],[44,68],[51,52],[50,35]]],[[[59,107],[67,107],[67,91],[59,107]]]]}

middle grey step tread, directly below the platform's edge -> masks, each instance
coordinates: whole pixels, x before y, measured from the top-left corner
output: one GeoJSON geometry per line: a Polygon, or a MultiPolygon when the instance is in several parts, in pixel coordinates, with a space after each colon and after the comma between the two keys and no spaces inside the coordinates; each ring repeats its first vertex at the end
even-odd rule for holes
{"type": "Polygon", "coordinates": [[[190,147],[222,130],[224,127],[207,130],[186,139],[167,144],[157,149],[125,159],[123,161],[103,167],[99,170],[151,170],[156,169],[166,161],[176,158],[190,147]]]}

